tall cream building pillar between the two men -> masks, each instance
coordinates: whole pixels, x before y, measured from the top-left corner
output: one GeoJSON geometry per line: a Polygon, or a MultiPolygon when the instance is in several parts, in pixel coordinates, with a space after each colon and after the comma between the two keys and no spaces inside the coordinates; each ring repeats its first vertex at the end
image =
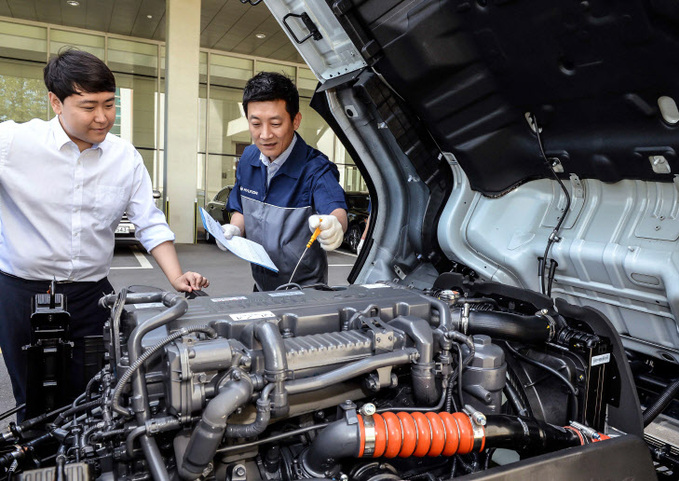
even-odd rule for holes
{"type": "Polygon", "coordinates": [[[200,0],[166,0],[165,201],[176,242],[195,242],[200,0]]]}

